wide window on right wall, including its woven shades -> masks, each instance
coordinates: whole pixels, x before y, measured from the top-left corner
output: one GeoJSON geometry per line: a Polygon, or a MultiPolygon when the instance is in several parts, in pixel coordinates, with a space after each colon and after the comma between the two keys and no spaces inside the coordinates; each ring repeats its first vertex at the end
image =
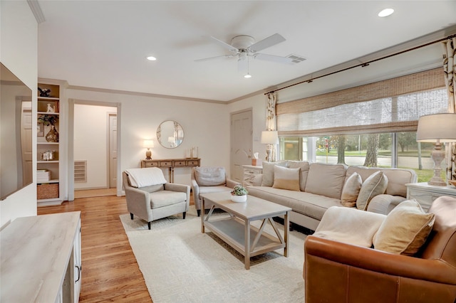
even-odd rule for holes
{"type": "Polygon", "coordinates": [[[433,145],[416,142],[415,132],[419,117],[447,112],[441,68],[278,102],[280,159],[398,167],[414,169],[418,181],[432,177],[433,145]]]}

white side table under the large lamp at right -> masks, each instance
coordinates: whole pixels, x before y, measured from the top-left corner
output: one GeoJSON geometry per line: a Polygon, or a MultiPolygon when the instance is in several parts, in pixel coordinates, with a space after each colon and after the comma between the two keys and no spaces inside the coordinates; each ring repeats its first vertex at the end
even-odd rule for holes
{"type": "Polygon", "coordinates": [[[432,202],[440,196],[456,198],[456,187],[429,185],[427,182],[405,184],[407,186],[407,198],[415,199],[427,211],[432,202]]]}

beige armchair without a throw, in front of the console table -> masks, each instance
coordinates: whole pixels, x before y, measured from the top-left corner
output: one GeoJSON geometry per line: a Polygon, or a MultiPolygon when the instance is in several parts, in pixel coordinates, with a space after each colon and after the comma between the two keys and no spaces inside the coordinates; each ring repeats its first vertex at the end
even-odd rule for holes
{"type": "MultiPolygon", "coordinates": [[[[198,216],[201,212],[202,201],[199,196],[201,193],[217,193],[219,191],[232,191],[233,187],[239,182],[227,179],[224,167],[199,166],[192,168],[192,191],[193,201],[197,209],[198,216]]],[[[212,207],[210,203],[204,203],[204,207],[212,207]]]]}

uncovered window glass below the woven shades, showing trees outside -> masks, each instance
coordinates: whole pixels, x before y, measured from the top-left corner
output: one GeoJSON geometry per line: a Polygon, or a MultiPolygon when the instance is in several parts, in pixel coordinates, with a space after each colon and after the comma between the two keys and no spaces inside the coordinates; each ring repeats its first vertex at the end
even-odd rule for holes
{"type": "MultiPolygon", "coordinates": [[[[430,152],[434,145],[416,142],[416,132],[281,138],[280,147],[284,160],[413,169],[418,182],[429,181],[433,175],[430,152]],[[307,150],[311,149],[315,154],[309,159],[311,153],[307,150]]],[[[442,179],[445,179],[445,167],[442,167],[442,179]]]]}

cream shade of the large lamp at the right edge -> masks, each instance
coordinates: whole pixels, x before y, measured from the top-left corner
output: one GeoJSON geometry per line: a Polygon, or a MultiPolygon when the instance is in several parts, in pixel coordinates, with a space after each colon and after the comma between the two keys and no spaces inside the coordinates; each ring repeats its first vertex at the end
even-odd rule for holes
{"type": "Polygon", "coordinates": [[[456,114],[425,115],[418,119],[417,142],[456,142],[456,114]]]}

